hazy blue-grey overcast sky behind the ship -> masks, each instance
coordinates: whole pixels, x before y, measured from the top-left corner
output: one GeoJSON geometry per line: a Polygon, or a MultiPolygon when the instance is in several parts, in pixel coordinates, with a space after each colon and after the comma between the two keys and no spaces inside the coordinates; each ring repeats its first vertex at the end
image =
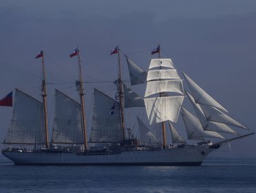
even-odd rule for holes
{"type": "MultiPolygon", "coordinates": [[[[116,45],[147,70],[150,50],[160,43],[163,57],[171,57],[176,68],[199,83],[238,121],[254,129],[255,24],[253,0],[1,1],[0,98],[19,88],[40,99],[41,65],[35,55],[42,48],[47,82],[73,83],[77,60],[70,59],[69,54],[77,45],[84,81],[113,81],[117,58],[110,57],[109,52],[116,45]]],[[[122,65],[124,78],[129,80],[124,57],[122,65]]],[[[71,84],[48,85],[49,95],[55,87],[77,97],[71,84]]],[[[93,87],[107,94],[115,89],[107,84],[85,85],[87,106],[91,105],[93,87]]],[[[0,141],[6,135],[11,114],[12,108],[0,108],[0,141]]],[[[232,152],[224,154],[256,156],[251,148],[256,146],[255,138],[235,142],[232,152]]]]}

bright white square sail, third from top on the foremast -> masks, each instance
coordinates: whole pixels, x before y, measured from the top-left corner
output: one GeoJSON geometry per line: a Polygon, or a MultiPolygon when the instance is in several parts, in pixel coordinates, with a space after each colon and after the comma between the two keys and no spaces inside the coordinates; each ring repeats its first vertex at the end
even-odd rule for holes
{"type": "Polygon", "coordinates": [[[176,92],[183,94],[182,80],[167,80],[167,81],[149,81],[147,82],[147,89],[145,97],[160,93],[160,92],[176,92]]]}

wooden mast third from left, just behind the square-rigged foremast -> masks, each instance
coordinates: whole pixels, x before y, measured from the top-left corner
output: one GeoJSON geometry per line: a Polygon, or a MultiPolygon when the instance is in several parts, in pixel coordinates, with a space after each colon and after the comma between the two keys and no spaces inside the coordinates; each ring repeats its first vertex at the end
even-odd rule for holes
{"type": "Polygon", "coordinates": [[[122,69],[120,64],[120,50],[118,47],[118,99],[120,103],[120,112],[121,112],[121,127],[122,127],[122,141],[125,141],[125,121],[124,121],[124,102],[123,102],[123,92],[122,92],[122,69]]]}

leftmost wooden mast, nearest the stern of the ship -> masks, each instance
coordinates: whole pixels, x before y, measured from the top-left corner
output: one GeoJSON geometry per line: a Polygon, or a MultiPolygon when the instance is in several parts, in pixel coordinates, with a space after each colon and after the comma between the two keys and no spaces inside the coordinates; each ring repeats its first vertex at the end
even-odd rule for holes
{"type": "Polygon", "coordinates": [[[47,123],[47,108],[46,108],[46,74],[44,68],[44,51],[42,50],[42,72],[43,72],[43,80],[42,80],[42,96],[43,96],[43,103],[44,103],[44,128],[46,131],[46,148],[49,148],[48,143],[48,123],[47,123]]]}

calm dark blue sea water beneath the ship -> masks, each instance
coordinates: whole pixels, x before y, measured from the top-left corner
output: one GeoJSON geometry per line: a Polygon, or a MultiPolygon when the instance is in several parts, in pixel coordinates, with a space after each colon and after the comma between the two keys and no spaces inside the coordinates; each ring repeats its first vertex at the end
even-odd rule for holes
{"type": "Polygon", "coordinates": [[[18,166],[0,156],[0,192],[256,192],[256,158],[195,167],[18,166]]]}

